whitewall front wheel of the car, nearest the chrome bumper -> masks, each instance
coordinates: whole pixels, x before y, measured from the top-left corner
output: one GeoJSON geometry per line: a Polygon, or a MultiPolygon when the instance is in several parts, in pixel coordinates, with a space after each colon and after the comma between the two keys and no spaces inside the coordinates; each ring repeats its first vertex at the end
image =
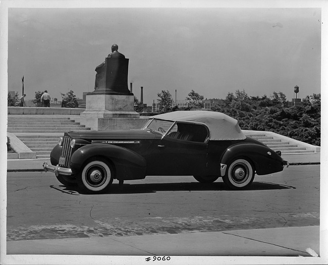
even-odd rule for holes
{"type": "Polygon", "coordinates": [[[77,183],[83,192],[101,193],[110,188],[113,179],[113,166],[103,158],[94,158],[84,164],[77,183]]]}

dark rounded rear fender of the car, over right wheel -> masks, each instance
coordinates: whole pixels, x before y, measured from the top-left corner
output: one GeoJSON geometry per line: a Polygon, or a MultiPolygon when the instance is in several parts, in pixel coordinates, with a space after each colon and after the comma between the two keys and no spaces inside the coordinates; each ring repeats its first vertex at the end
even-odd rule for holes
{"type": "Polygon", "coordinates": [[[280,172],[284,169],[283,158],[267,146],[240,143],[230,146],[221,157],[221,176],[225,175],[227,165],[237,157],[250,160],[257,175],[280,172]]]}

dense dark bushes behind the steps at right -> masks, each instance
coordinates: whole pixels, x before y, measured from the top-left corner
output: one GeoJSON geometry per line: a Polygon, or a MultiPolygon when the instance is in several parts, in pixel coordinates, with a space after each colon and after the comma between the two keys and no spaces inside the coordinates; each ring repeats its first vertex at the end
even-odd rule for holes
{"type": "Polygon", "coordinates": [[[248,97],[245,91],[228,93],[220,105],[211,111],[225,113],[239,122],[244,130],[272,131],[302,142],[320,145],[320,94],[303,99],[301,105],[287,107],[282,92],[274,92],[271,99],[248,97]]]}

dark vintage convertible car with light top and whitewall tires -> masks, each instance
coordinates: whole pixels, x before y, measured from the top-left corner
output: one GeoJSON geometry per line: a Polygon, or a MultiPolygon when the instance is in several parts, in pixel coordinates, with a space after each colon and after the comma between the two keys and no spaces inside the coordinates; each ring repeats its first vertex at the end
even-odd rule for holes
{"type": "Polygon", "coordinates": [[[222,177],[231,189],[249,186],[254,174],[288,166],[281,152],[245,136],[237,120],[218,112],[176,111],[153,116],[138,130],[65,132],[50,154],[64,185],[99,193],[114,179],[194,176],[201,183],[222,177]]]}

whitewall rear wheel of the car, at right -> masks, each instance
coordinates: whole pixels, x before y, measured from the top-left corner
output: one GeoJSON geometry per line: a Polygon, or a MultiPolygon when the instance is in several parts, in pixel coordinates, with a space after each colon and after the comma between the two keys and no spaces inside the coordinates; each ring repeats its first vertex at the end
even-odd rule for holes
{"type": "Polygon", "coordinates": [[[252,184],[254,168],[246,158],[236,158],[228,164],[223,182],[231,189],[244,189],[252,184]]]}

